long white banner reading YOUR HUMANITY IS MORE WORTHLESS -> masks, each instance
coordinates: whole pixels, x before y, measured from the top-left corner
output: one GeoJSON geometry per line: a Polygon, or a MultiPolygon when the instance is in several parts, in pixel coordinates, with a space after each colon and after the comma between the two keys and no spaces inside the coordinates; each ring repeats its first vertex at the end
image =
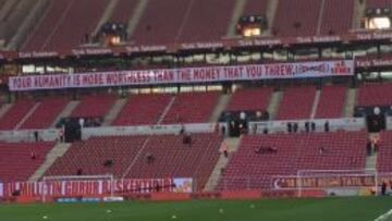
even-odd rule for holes
{"type": "Polygon", "coordinates": [[[17,91],[347,75],[354,75],[354,61],[344,60],[15,76],[10,77],[9,88],[12,91],[17,91]]]}

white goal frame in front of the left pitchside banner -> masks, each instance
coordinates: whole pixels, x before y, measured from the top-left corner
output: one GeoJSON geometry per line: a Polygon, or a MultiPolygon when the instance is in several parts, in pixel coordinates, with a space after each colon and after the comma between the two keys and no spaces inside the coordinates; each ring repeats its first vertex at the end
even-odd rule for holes
{"type": "MultiPolygon", "coordinates": [[[[99,196],[114,197],[114,176],[113,174],[103,175],[54,175],[44,176],[40,185],[40,192],[42,202],[46,202],[49,196],[52,197],[75,197],[74,193],[69,195],[66,189],[72,186],[75,187],[72,192],[76,193],[77,196],[83,196],[84,192],[91,191],[91,186],[99,189],[97,194],[99,196]],[[103,188],[107,186],[107,188],[103,188]],[[77,191],[75,191],[77,189],[77,191]]],[[[87,194],[88,196],[88,194],[87,194]]],[[[95,195],[96,196],[96,195],[95,195]]]]}

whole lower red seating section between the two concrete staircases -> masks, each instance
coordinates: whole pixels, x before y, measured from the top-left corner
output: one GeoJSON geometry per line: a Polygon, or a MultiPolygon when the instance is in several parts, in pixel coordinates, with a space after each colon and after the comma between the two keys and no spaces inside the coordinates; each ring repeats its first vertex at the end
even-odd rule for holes
{"type": "Polygon", "coordinates": [[[192,145],[181,135],[90,137],[75,143],[46,175],[97,175],[115,177],[195,177],[201,189],[219,157],[221,138],[216,134],[193,134],[192,145]],[[147,162],[147,155],[154,161],[147,162]],[[112,167],[105,167],[112,160],[112,167]]]}

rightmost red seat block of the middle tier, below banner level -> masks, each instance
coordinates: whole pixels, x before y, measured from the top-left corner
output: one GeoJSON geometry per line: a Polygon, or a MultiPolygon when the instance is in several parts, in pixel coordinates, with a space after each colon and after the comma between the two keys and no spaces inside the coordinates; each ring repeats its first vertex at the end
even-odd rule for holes
{"type": "Polygon", "coordinates": [[[357,90],[358,106],[390,106],[392,105],[392,84],[363,84],[357,90]]]}

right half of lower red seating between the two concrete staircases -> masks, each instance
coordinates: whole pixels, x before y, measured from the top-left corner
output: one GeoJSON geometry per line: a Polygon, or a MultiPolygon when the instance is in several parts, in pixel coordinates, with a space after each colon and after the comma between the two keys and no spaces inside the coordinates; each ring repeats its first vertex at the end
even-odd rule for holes
{"type": "Polygon", "coordinates": [[[179,135],[151,136],[126,177],[194,177],[201,191],[218,161],[220,144],[216,134],[193,134],[191,146],[179,135]],[[146,163],[148,154],[152,163],[146,163]]]}

